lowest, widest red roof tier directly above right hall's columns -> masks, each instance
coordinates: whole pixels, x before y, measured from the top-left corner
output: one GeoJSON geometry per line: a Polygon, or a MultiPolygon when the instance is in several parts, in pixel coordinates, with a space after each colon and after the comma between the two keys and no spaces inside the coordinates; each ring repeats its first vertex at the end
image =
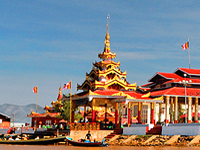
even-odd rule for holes
{"type": "MultiPolygon", "coordinates": [[[[187,88],[186,89],[187,96],[200,96],[200,89],[197,88],[187,88]]],[[[161,95],[174,95],[174,96],[185,96],[185,88],[184,87],[173,87],[169,89],[159,90],[151,92],[151,96],[161,96],[161,95]]]]}

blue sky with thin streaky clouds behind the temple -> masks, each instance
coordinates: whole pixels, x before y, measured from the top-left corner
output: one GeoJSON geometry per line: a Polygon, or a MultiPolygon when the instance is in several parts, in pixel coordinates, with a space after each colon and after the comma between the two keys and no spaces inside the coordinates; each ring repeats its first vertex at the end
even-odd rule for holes
{"type": "Polygon", "coordinates": [[[200,1],[6,0],[0,14],[0,104],[35,103],[38,86],[38,104],[51,105],[71,79],[77,92],[100,61],[108,14],[111,51],[128,82],[188,68],[188,38],[191,68],[200,69],[200,1]]]}

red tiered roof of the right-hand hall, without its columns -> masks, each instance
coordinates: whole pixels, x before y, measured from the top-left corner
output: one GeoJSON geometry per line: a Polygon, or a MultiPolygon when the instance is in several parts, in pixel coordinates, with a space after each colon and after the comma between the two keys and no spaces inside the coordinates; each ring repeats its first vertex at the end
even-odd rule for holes
{"type": "Polygon", "coordinates": [[[177,68],[174,73],[157,72],[142,87],[150,88],[150,96],[186,96],[200,97],[200,69],[177,68]]]}

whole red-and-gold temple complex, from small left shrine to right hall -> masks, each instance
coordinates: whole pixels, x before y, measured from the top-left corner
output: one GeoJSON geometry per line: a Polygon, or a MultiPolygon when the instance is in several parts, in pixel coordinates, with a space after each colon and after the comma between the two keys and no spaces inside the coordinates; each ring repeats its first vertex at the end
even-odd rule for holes
{"type": "MultiPolygon", "coordinates": [[[[62,95],[60,87],[57,101],[52,102],[52,107],[45,106],[46,113],[29,115],[32,124],[37,125],[42,117],[53,118],[51,115],[59,113],[56,110],[62,109],[65,101],[71,102],[71,131],[120,129],[121,125],[130,127],[136,123],[154,126],[199,122],[200,69],[157,72],[146,85],[131,84],[127,72],[121,71],[120,62],[114,61],[116,53],[111,52],[108,24],[103,52],[98,57],[100,61],[95,61],[82,84],[77,84],[80,92],[62,95]],[[77,107],[83,108],[80,122],[74,118],[77,107]]],[[[59,120],[52,119],[51,123],[56,121],[59,120]]]]}

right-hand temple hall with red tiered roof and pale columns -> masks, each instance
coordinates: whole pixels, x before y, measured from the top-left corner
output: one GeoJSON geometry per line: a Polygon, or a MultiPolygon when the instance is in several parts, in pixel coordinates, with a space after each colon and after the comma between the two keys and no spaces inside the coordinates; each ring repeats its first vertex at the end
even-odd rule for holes
{"type": "Polygon", "coordinates": [[[150,97],[164,98],[164,103],[158,106],[156,121],[199,122],[200,69],[177,68],[173,73],[157,72],[148,81],[150,83],[142,87],[150,88],[150,97]],[[184,110],[181,112],[181,109],[184,110]]]}

